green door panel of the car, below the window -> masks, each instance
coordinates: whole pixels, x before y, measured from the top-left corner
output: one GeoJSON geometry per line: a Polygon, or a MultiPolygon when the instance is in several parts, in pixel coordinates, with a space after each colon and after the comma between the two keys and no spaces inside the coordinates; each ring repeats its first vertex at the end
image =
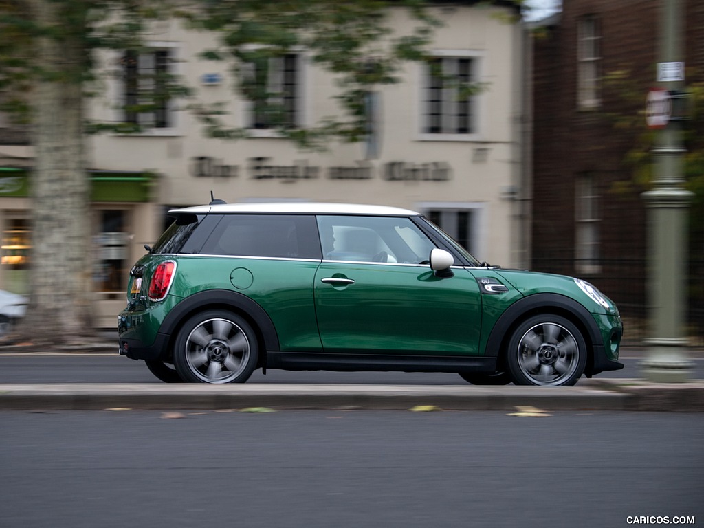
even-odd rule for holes
{"type": "Polygon", "coordinates": [[[482,299],[468,273],[441,279],[427,265],[323,262],[314,291],[327,351],[479,353],[482,299]],[[336,276],[355,283],[320,280],[336,276]]]}

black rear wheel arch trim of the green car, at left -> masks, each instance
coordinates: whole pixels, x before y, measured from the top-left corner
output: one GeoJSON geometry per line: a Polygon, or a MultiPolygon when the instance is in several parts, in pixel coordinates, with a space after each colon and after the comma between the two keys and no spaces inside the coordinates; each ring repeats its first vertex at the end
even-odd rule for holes
{"type": "Polygon", "coordinates": [[[173,361],[176,335],[183,323],[195,313],[210,309],[229,310],[249,322],[260,343],[258,367],[265,367],[267,351],[279,350],[279,336],[274,323],[259,303],[237,291],[212,289],[199,291],[197,294],[184,298],[164,318],[159,328],[159,334],[163,334],[168,341],[168,346],[165,347],[163,353],[164,355],[168,354],[168,358],[162,358],[163,360],[173,361]]]}

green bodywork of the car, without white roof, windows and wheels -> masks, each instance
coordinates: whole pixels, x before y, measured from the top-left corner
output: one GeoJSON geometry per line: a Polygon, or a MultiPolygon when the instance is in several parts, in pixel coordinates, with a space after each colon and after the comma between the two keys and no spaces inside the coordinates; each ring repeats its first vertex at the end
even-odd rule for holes
{"type": "MultiPolygon", "coordinates": [[[[218,222],[209,218],[208,229],[218,222]]],[[[479,265],[434,230],[427,237],[451,251],[455,265],[439,272],[429,261],[150,252],[132,268],[127,308],[118,315],[120,353],[173,363],[187,321],[224,310],[253,328],[258,367],[271,358],[275,367],[303,370],[317,368],[322,358],[320,367],[331,370],[366,370],[369,361],[370,370],[492,372],[505,366],[505,347],[521,321],[554,313],[583,334],[591,362],[586,375],[622,367],[620,316],[598,291],[595,301],[572,277],[479,265]],[[153,300],[153,275],[168,261],[175,263],[168,291],[153,300]],[[288,358],[307,363],[289,364],[288,358]]]]}

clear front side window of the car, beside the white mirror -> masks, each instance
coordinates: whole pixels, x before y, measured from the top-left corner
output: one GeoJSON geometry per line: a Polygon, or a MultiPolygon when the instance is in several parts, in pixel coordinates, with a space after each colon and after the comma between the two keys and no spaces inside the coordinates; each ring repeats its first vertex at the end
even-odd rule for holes
{"type": "Polygon", "coordinates": [[[321,215],[318,229],[327,260],[420,264],[435,247],[405,217],[321,215]]]}

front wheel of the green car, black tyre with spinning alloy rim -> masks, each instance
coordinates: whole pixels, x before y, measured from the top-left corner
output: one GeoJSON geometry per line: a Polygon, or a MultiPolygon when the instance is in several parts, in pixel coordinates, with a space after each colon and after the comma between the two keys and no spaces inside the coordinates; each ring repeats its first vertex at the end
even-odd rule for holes
{"type": "Polygon", "coordinates": [[[517,385],[574,385],[582,377],[586,356],[577,326],[560,315],[542,314],[515,329],[506,365],[517,385]]]}

